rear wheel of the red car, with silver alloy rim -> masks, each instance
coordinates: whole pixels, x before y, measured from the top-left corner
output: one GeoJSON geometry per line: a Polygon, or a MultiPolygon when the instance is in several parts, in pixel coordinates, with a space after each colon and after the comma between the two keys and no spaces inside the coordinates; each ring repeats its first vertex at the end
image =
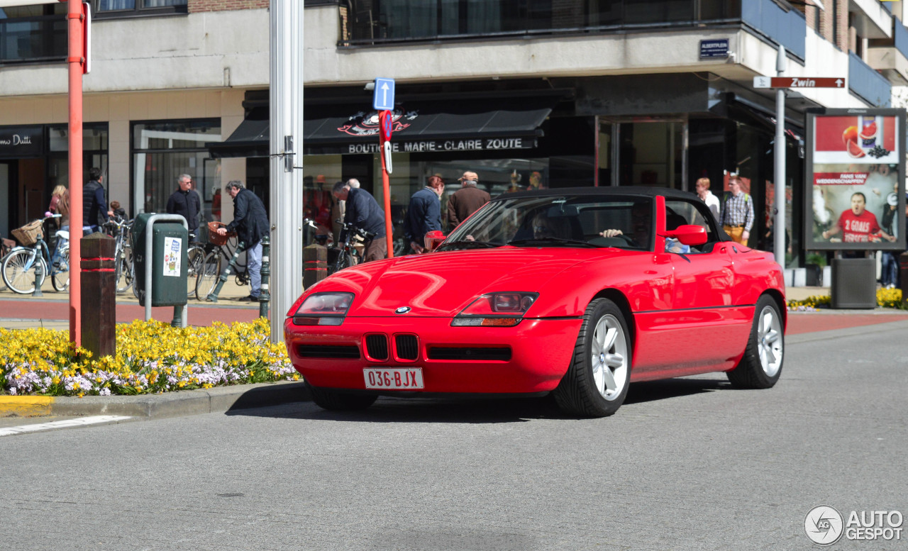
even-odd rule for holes
{"type": "Polygon", "coordinates": [[[772,297],[756,301],[754,325],[750,328],[744,357],[735,369],[726,372],[737,389],[770,389],[782,375],[785,356],[785,330],[782,315],[772,297]]]}

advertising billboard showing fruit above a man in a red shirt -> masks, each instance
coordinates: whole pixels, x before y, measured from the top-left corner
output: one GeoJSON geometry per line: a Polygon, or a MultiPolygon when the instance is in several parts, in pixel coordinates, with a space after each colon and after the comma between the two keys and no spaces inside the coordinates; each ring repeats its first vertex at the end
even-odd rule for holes
{"type": "Polygon", "coordinates": [[[905,111],[807,113],[806,249],[904,251],[905,111]]]}

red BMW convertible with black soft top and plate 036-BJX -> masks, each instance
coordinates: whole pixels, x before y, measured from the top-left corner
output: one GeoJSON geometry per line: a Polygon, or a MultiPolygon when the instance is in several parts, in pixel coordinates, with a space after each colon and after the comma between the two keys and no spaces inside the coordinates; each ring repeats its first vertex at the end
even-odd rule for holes
{"type": "Polygon", "coordinates": [[[588,417],[633,381],[725,371],[772,387],[784,334],[771,253],[729,241],[696,195],[628,187],[501,195],[428,254],[312,285],[284,322],[322,408],[553,392],[588,417]]]}

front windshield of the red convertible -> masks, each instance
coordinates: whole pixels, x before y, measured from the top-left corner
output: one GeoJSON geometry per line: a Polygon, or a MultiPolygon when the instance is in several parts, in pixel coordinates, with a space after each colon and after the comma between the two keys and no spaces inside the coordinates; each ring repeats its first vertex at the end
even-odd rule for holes
{"type": "Polygon", "coordinates": [[[651,251],[647,197],[547,195],[501,198],[452,231],[441,251],[515,247],[617,247],[651,251]]]}

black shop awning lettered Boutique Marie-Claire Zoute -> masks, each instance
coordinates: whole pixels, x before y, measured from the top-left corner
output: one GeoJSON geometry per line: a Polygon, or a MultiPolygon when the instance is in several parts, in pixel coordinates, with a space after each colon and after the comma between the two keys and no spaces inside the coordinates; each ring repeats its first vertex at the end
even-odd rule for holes
{"type": "MultiPolygon", "coordinates": [[[[457,152],[527,149],[542,135],[558,97],[518,97],[400,102],[391,144],[396,152],[457,152]]],[[[353,104],[307,105],[305,154],[377,153],[378,113],[353,104]]],[[[244,120],[226,141],[206,143],[214,157],[267,156],[268,122],[244,120]]]]}

